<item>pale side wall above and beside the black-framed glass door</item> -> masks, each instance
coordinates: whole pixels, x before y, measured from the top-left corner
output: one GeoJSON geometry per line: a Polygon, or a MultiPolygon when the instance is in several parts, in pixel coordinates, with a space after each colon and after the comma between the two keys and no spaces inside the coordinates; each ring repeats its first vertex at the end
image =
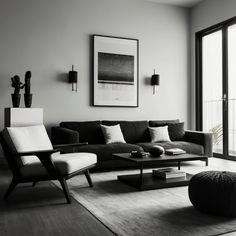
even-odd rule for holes
{"type": "Polygon", "coordinates": [[[195,33],[236,16],[235,0],[205,0],[191,12],[191,123],[195,128],[195,33]]]}

